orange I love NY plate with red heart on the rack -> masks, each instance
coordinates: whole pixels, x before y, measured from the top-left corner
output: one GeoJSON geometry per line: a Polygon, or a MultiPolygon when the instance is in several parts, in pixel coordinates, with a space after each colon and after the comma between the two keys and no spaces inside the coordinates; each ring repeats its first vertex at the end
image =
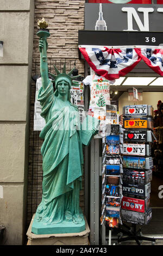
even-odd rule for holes
{"type": "Polygon", "coordinates": [[[147,128],[146,118],[124,118],[124,129],[147,128]]]}

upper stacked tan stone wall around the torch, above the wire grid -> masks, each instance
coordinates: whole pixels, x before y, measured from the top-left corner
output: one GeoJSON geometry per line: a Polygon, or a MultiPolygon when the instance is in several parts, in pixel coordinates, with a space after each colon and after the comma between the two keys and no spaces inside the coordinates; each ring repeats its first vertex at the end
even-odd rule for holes
{"type": "Polygon", "coordinates": [[[51,33],[48,59],[76,60],[80,74],[84,73],[83,60],[78,59],[78,30],[84,29],[84,4],[85,1],[78,0],[35,0],[33,60],[40,59],[36,22],[44,17],[51,33]]]}

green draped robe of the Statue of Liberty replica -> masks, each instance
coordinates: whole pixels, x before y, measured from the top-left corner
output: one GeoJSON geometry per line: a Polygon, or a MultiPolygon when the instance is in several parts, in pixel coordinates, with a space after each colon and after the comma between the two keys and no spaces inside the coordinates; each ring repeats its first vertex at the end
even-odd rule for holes
{"type": "Polygon", "coordinates": [[[41,116],[46,125],[40,133],[44,139],[41,147],[43,181],[36,220],[60,223],[65,219],[65,212],[82,220],[79,191],[82,188],[83,149],[78,108],[55,96],[50,81],[46,90],[40,88],[37,100],[41,103],[41,116]]]}

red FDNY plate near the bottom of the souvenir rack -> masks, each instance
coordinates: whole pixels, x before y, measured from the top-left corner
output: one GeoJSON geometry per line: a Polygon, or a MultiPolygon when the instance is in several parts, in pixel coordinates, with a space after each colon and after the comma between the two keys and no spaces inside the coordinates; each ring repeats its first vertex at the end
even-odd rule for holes
{"type": "Polygon", "coordinates": [[[145,212],[145,200],[123,197],[121,208],[130,211],[145,212]]]}

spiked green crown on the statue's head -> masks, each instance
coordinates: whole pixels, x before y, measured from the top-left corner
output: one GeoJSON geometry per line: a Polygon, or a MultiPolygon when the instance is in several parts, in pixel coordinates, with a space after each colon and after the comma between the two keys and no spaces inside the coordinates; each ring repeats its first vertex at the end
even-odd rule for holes
{"type": "Polygon", "coordinates": [[[64,80],[66,80],[67,82],[69,82],[70,85],[74,85],[74,84],[73,84],[73,80],[75,80],[77,77],[80,76],[80,75],[78,75],[78,76],[71,76],[71,74],[72,74],[72,72],[73,72],[73,70],[74,70],[75,68],[76,68],[76,67],[74,66],[74,68],[73,68],[70,72],[68,72],[68,74],[66,74],[66,64],[64,64],[64,68],[63,68],[63,70],[62,70],[62,73],[60,73],[59,70],[58,70],[58,69],[56,68],[56,66],[54,65],[54,69],[55,69],[57,75],[54,75],[54,74],[52,74],[52,73],[50,73],[50,72],[48,72],[48,73],[49,73],[49,75],[51,75],[51,76],[54,78],[54,80],[52,80],[52,83],[55,82],[55,84],[57,84],[58,81],[64,79],[64,80]]]}

